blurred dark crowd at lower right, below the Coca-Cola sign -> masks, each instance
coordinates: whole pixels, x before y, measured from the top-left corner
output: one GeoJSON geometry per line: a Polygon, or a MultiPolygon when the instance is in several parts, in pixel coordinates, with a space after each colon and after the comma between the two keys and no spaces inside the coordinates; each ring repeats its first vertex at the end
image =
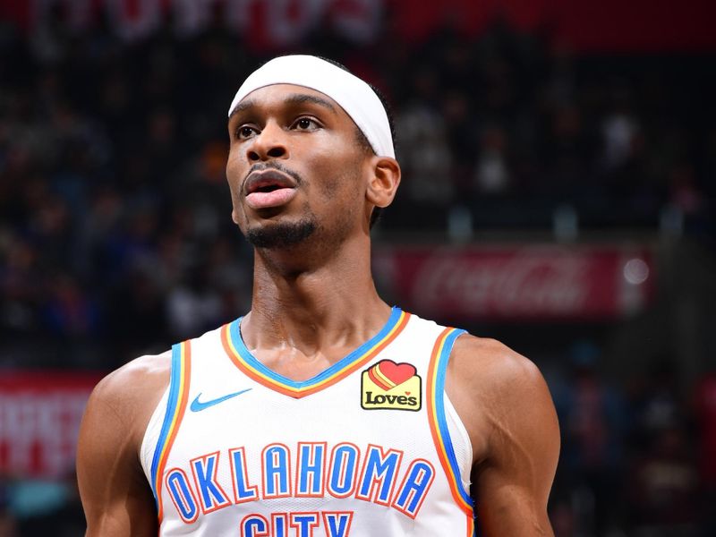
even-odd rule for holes
{"type": "Polygon", "coordinates": [[[550,518],[559,536],[716,534],[716,375],[682,396],[665,357],[627,388],[579,342],[549,378],[562,432],[550,518]]]}

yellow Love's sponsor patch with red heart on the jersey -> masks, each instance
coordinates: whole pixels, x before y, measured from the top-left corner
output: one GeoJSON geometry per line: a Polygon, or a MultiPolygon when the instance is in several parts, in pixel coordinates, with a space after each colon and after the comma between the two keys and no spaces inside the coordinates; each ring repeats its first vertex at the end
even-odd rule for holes
{"type": "Polygon", "coordinates": [[[361,407],[365,410],[418,411],[422,380],[412,363],[381,360],[362,372],[361,407]]]}

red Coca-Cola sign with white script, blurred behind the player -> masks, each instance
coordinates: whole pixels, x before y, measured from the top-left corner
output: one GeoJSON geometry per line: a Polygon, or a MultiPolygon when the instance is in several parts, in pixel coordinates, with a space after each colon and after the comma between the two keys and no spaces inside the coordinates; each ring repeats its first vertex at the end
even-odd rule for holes
{"type": "Polygon", "coordinates": [[[397,303],[428,315],[595,319],[647,303],[651,259],[633,247],[386,247],[376,252],[374,267],[397,303]]]}

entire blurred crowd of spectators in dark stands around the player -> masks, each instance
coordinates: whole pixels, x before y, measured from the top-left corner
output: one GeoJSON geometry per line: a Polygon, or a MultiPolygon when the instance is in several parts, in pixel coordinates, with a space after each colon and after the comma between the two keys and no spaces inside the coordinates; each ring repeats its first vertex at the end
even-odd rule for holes
{"type": "MultiPolygon", "coordinates": [[[[107,371],[247,311],[226,110],[269,53],[220,20],[132,43],[61,16],[37,36],[0,22],[0,367],[107,371]]],[[[317,33],[292,51],[346,64],[393,104],[404,183],[381,234],[567,221],[716,244],[716,76],[697,55],[584,57],[501,21],[413,44],[387,24],[361,49],[317,33]]],[[[626,392],[595,373],[592,350],[573,354],[550,381],[558,535],[716,534],[716,469],[697,456],[716,448],[716,380],[685,400],[662,369],[626,392]]],[[[68,483],[66,533],[56,518],[18,533],[47,519],[8,507],[0,536],[81,534],[68,483]]],[[[30,485],[5,483],[0,506],[30,485]]]]}

